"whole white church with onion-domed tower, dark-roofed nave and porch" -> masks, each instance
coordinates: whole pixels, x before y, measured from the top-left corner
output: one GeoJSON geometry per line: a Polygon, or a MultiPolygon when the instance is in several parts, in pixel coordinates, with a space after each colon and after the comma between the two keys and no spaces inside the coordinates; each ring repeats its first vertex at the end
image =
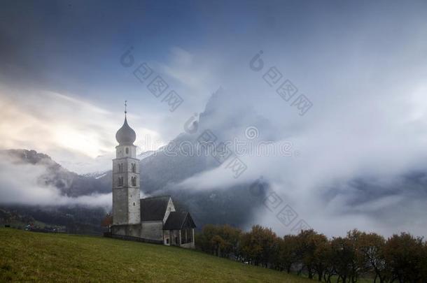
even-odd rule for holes
{"type": "Polygon", "coordinates": [[[137,135],[127,124],[126,113],[116,133],[118,146],[113,159],[112,236],[194,248],[196,226],[189,212],[176,208],[171,196],[140,197],[139,159],[134,145],[137,135]]]}

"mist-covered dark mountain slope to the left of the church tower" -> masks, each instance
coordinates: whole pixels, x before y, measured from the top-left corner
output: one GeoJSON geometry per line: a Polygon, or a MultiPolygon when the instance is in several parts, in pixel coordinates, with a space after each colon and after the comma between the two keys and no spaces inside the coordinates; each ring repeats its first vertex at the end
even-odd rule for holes
{"type": "Polygon", "coordinates": [[[2,150],[0,157],[1,225],[43,222],[69,233],[102,233],[111,203],[104,180],[72,173],[34,150],[2,150]]]}

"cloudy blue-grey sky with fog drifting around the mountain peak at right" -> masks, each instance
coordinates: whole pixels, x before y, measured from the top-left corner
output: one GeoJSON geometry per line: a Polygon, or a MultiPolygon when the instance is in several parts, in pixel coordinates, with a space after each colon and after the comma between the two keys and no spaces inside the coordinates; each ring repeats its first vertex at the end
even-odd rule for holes
{"type": "Polygon", "coordinates": [[[155,150],[223,87],[218,123],[255,123],[259,138],[290,140],[300,157],[245,157],[244,177],[211,170],[185,184],[212,189],[262,175],[315,228],[426,235],[426,198],[384,192],[427,170],[425,1],[170,2],[3,1],[0,148],[44,152],[78,173],[106,170],[125,100],[139,150],[155,150]],[[135,77],[142,63],[181,96],[179,108],[135,77]],[[270,86],[272,67],[281,80],[270,86]],[[311,101],[304,115],[276,93],[284,80],[311,101]],[[381,192],[360,194],[351,185],[360,177],[381,192]]]}

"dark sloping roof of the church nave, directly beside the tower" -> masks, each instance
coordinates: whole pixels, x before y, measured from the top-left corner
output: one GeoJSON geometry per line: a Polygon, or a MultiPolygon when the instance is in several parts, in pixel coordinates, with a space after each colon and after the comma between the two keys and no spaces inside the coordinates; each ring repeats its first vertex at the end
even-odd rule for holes
{"type": "Polygon", "coordinates": [[[171,196],[141,198],[141,221],[162,221],[171,196]]]}

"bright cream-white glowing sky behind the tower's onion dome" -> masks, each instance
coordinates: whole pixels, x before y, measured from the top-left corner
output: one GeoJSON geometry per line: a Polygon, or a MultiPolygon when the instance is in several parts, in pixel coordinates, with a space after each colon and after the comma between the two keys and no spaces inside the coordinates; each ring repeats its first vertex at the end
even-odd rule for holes
{"type": "MultiPolygon", "coordinates": [[[[11,96],[1,91],[0,100],[3,102],[0,106],[1,149],[36,150],[76,173],[98,170],[94,164],[99,157],[113,158],[116,131],[123,124],[122,113],[54,92],[27,94],[26,99],[20,99],[19,94],[11,96]],[[45,109],[47,99],[50,101],[48,110],[45,109]],[[87,169],[81,164],[87,164],[87,169]]],[[[165,145],[160,142],[162,138],[158,132],[138,124],[141,119],[137,115],[130,117],[130,124],[137,131],[135,145],[139,151],[158,150],[165,145]]],[[[111,166],[108,158],[98,162],[102,162],[98,164],[99,170],[111,166]]]]}

